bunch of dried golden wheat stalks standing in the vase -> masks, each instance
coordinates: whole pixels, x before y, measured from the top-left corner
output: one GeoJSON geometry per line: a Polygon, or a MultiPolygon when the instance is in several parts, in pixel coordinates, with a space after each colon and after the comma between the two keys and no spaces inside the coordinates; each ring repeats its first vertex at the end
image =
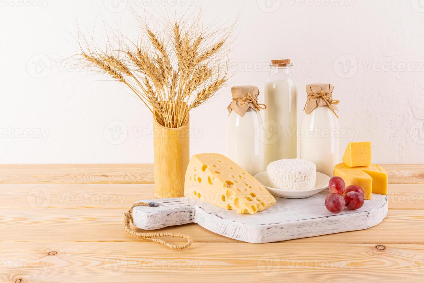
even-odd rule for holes
{"type": "Polygon", "coordinates": [[[191,109],[228,81],[229,63],[223,59],[228,57],[233,26],[207,32],[200,21],[158,22],[154,26],[162,32],[155,34],[140,20],[139,44],[118,40],[118,48],[99,51],[83,38],[80,55],[86,64],[129,87],[162,126],[178,128],[191,109]]]}

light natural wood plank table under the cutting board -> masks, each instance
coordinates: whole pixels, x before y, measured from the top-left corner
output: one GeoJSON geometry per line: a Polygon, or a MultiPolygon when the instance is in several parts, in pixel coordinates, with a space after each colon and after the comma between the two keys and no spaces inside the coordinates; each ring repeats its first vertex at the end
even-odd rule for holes
{"type": "Polygon", "coordinates": [[[176,251],[122,228],[154,198],[152,165],[0,165],[0,281],[424,282],[424,165],[383,167],[389,212],[375,227],[271,244],[162,229],[192,235],[176,251]]]}

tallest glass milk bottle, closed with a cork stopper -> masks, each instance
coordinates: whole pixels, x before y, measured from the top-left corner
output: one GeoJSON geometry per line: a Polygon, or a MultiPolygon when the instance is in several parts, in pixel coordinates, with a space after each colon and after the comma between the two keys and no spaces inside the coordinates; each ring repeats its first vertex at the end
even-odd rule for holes
{"type": "Polygon", "coordinates": [[[290,60],[272,60],[265,82],[265,163],[297,157],[297,87],[290,60]]]}

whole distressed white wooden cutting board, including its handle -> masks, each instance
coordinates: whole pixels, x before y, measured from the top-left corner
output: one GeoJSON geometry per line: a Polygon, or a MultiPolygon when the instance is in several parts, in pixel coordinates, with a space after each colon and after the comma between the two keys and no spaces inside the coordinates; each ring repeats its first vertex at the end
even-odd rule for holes
{"type": "Polygon", "coordinates": [[[386,195],[373,193],[360,209],[333,214],[324,205],[328,194],[326,190],[306,199],[276,197],[276,205],[255,214],[239,214],[187,197],[147,199],[140,202],[151,207],[134,207],[133,219],[136,227],[145,230],[195,222],[228,238],[260,244],[367,229],[387,216],[386,195]]]}

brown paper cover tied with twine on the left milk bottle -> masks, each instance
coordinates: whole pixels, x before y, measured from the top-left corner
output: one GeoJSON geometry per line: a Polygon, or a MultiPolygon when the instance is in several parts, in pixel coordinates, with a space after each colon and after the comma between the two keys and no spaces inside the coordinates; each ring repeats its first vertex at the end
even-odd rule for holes
{"type": "Polygon", "coordinates": [[[231,88],[233,101],[227,107],[228,114],[233,110],[241,117],[244,116],[247,109],[252,108],[255,111],[266,109],[266,105],[258,103],[259,89],[251,85],[234,86],[231,88]]]}

